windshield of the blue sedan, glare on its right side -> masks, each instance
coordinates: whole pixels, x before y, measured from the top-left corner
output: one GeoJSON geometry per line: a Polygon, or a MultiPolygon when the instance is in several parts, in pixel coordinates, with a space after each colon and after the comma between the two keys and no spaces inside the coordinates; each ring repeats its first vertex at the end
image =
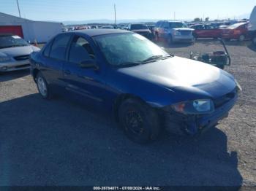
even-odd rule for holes
{"type": "Polygon", "coordinates": [[[94,39],[113,66],[127,67],[170,57],[165,50],[139,34],[110,34],[94,39]]]}

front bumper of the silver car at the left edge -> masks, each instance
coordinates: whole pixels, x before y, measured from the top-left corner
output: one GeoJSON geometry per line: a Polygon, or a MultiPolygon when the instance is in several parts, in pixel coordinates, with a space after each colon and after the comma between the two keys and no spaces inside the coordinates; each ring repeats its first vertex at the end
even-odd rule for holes
{"type": "Polygon", "coordinates": [[[10,61],[10,62],[4,62],[0,63],[0,71],[17,71],[17,70],[23,70],[23,69],[29,69],[30,63],[29,59],[25,61],[10,61]]]}

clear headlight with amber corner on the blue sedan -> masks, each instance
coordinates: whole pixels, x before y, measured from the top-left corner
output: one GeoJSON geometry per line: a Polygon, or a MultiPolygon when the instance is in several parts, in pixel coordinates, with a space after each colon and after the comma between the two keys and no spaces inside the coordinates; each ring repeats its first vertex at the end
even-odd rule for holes
{"type": "Polygon", "coordinates": [[[214,112],[214,103],[210,99],[198,99],[173,104],[172,109],[182,114],[211,114],[214,112]]]}

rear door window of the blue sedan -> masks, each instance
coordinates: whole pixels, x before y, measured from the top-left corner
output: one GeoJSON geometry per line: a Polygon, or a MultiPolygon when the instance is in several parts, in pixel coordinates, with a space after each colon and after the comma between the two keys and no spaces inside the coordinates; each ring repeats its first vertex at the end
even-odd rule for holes
{"type": "Polygon", "coordinates": [[[61,34],[56,36],[50,49],[50,58],[64,61],[71,34],[61,34]]]}

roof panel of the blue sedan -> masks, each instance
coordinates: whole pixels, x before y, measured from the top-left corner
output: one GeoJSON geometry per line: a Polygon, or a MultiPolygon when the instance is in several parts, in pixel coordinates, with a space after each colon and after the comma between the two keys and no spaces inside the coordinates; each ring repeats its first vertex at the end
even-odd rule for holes
{"type": "Polygon", "coordinates": [[[87,36],[100,36],[105,34],[124,34],[124,33],[131,33],[130,31],[124,31],[120,29],[84,29],[84,30],[77,30],[77,31],[69,31],[67,33],[75,34],[86,34],[87,36]]]}

